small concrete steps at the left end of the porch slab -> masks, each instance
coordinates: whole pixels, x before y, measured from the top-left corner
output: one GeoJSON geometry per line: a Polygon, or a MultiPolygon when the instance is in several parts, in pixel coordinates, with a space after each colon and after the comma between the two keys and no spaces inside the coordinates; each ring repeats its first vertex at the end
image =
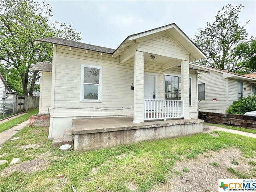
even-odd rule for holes
{"type": "Polygon", "coordinates": [[[54,137],[52,141],[52,147],[61,146],[64,144],[73,145],[74,143],[74,135],[73,129],[65,129],[63,135],[58,135],[54,137]]]}

